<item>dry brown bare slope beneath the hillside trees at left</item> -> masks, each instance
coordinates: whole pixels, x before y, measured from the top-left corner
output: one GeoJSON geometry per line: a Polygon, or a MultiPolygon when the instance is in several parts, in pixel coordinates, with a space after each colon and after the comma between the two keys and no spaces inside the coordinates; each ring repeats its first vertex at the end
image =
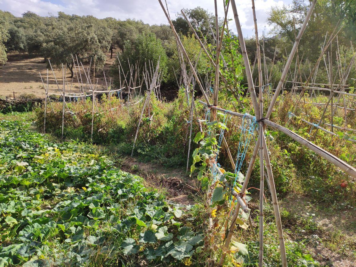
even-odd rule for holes
{"type": "MultiPolygon", "coordinates": [[[[111,64],[115,61],[115,57],[113,56],[113,58],[110,59],[110,53],[106,54],[106,57],[107,59],[104,66],[104,71],[105,71],[106,79],[108,79],[108,83],[109,83],[110,80],[109,68],[111,64]]],[[[53,70],[54,70],[54,75],[57,78],[59,88],[62,90],[63,88],[62,70],[58,68],[54,68],[53,70]]],[[[41,73],[43,79],[46,79],[47,64],[43,63],[43,58],[41,57],[28,58],[27,54],[9,55],[9,61],[6,63],[6,65],[0,66],[0,97],[13,96],[14,94],[13,92],[15,92],[15,96],[19,96],[23,94],[27,94],[27,95],[32,94],[35,96],[43,97],[44,89],[39,73],[41,73]]],[[[56,84],[51,69],[48,70],[48,75],[49,75],[49,90],[48,90],[49,93],[52,94],[59,93],[58,86],[56,84]]],[[[70,84],[72,83],[72,79],[70,78],[69,70],[67,70],[66,76],[67,76],[67,82],[70,87],[70,84]]],[[[95,77],[99,79],[98,88],[106,89],[103,70],[101,70],[99,73],[96,73],[95,77]]],[[[72,93],[79,93],[78,80],[75,74],[73,79],[72,93]]]]}

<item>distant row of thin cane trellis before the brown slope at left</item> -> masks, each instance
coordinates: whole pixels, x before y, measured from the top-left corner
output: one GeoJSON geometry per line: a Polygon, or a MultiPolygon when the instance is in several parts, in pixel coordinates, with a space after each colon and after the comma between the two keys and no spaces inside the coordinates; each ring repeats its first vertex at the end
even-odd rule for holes
{"type": "MultiPolygon", "coordinates": [[[[75,58],[77,59],[77,56],[75,56],[75,58]]],[[[64,121],[65,121],[65,116],[64,115],[66,113],[69,113],[72,116],[75,115],[75,112],[70,110],[70,108],[69,108],[67,103],[72,102],[72,99],[74,99],[74,100],[77,100],[79,102],[79,104],[80,104],[80,103],[84,103],[84,101],[85,101],[85,99],[87,97],[91,97],[91,99],[92,99],[91,123],[90,123],[90,139],[91,139],[91,141],[93,141],[94,117],[99,115],[99,114],[110,112],[110,111],[115,110],[115,109],[118,108],[118,107],[112,108],[112,106],[111,106],[110,96],[111,96],[112,93],[117,93],[118,97],[119,97],[119,94],[120,94],[120,97],[122,99],[122,91],[125,88],[127,88],[127,90],[128,90],[127,101],[126,101],[126,103],[121,103],[121,106],[126,105],[128,108],[130,108],[130,106],[136,105],[136,104],[140,103],[143,100],[143,98],[141,98],[138,101],[136,101],[135,103],[131,103],[130,102],[131,100],[133,100],[133,97],[140,98],[141,91],[142,91],[141,88],[142,88],[143,82],[145,81],[146,88],[148,89],[148,91],[150,91],[150,89],[152,88],[153,89],[152,91],[154,91],[156,98],[159,101],[161,101],[161,92],[160,92],[160,89],[159,89],[160,86],[161,86],[161,72],[160,71],[157,73],[156,78],[154,80],[153,75],[155,73],[152,73],[152,70],[150,71],[150,68],[145,68],[145,70],[142,71],[142,79],[140,81],[139,72],[141,71],[141,68],[138,66],[137,63],[136,64],[131,64],[129,72],[127,72],[126,75],[125,75],[125,73],[123,73],[124,74],[124,78],[121,80],[122,67],[120,69],[121,63],[119,61],[119,64],[120,64],[119,65],[119,77],[120,77],[119,80],[120,80],[121,88],[115,89],[115,90],[111,90],[111,79],[109,80],[109,85],[108,85],[108,82],[106,80],[105,72],[103,71],[106,90],[105,90],[105,88],[104,88],[104,90],[99,90],[98,89],[98,78],[96,78],[96,84],[93,84],[92,80],[91,80],[91,77],[90,77],[91,61],[90,61],[89,68],[87,67],[87,69],[85,69],[83,64],[82,64],[82,62],[79,62],[78,59],[77,59],[77,63],[75,63],[73,56],[72,56],[72,59],[73,59],[73,66],[75,68],[75,75],[74,76],[77,76],[77,77],[73,76],[72,83],[71,83],[71,85],[69,87],[68,80],[67,80],[67,77],[66,77],[66,72],[64,71],[64,66],[62,65],[61,69],[62,69],[63,90],[61,90],[60,87],[59,87],[59,83],[58,83],[56,74],[54,73],[54,70],[52,68],[51,62],[48,59],[49,66],[50,66],[50,68],[52,70],[52,73],[53,73],[53,79],[54,79],[55,84],[57,85],[59,93],[49,93],[49,91],[48,91],[48,85],[49,85],[48,69],[47,69],[46,85],[45,85],[45,82],[44,82],[44,80],[42,78],[41,73],[39,73],[41,81],[42,81],[43,88],[45,90],[45,92],[44,92],[45,93],[45,110],[44,110],[44,119],[43,119],[43,132],[44,133],[46,132],[46,115],[48,113],[48,111],[47,111],[47,101],[49,101],[49,104],[51,106],[51,110],[52,110],[52,112],[54,112],[54,109],[53,109],[53,106],[52,106],[52,101],[51,101],[51,98],[49,97],[50,95],[59,96],[61,98],[61,101],[63,102],[63,105],[62,105],[62,116],[61,116],[62,117],[62,123],[61,123],[61,126],[60,126],[62,138],[63,138],[63,135],[64,135],[64,121]],[[78,71],[77,71],[77,68],[78,68],[78,71]],[[136,71],[135,71],[135,74],[133,75],[134,68],[135,68],[136,71]],[[83,77],[82,77],[82,72],[84,72],[83,77]],[[130,74],[130,76],[129,76],[129,78],[127,78],[127,76],[129,74],[130,74]],[[72,93],[73,80],[75,78],[78,81],[80,93],[72,93]],[[83,81],[83,78],[86,81],[83,81]],[[139,82],[138,85],[137,85],[137,80],[139,82]],[[125,86],[125,84],[126,84],[126,86],[125,86]],[[139,93],[137,93],[137,91],[136,91],[137,88],[140,88],[139,89],[139,93]],[[111,108],[109,108],[108,110],[104,110],[102,112],[99,112],[98,106],[96,104],[96,102],[97,102],[96,95],[98,95],[98,94],[107,94],[108,95],[109,104],[110,104],[111,108]],[[66,101],[66,100],[68,100],[68,101],[66,101]],[[95,107],[96,107],[96,110],[95,110],[95,107]]],[[[148,63],[150,64],[150,66],[152,64],[152,68],[153,68],[153,62],[148,62],[148,63]]],[[[157,64],[157,68],[159,68],[159,64],[157,64]]],[[[148,96],[149,96],[149,94],[148,94],[148,96]]],[[[139,127],[139,125],[138,125],[138,127],[139,127]]],[[[99,131],[100,131],[100,129],[99,129],[99,131]]]]}

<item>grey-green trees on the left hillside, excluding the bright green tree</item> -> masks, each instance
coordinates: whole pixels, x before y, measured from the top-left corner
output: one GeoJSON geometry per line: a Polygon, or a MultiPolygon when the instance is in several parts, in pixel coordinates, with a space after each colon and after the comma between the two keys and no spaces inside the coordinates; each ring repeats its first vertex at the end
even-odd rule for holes
{"type": "Polygon", "coordinates": [[[126,41],[135,42],[139,35],[148,32],[162,41],[171,37],[167,25],[150,26],[130,19],[97,19],[63,12],[41,17],[30,11],[15,17],[0,10],[0,64],[6,63],[6,53],[19,51],[49,58],[57,66],[67,64],[72,75],[72,55],[77,55],[79,61],[95,58],[95,67],[101,69],[105,53],[111,52],[112,57],[114,49],[123,51],[126,41]]]}

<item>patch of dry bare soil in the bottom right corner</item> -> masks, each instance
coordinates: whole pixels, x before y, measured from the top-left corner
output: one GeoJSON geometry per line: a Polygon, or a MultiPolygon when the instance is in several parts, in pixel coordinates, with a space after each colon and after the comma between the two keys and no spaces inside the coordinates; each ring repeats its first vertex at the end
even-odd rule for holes
{"type": "MultiPolygon", "coordinates": [[[[304,218],[312,215],[313,221],[320,230],[314,233],[318,242],[309,242],[307,249],[312,252],[313,258],[321,266],[356,266],[355,251],[350,251],[347,248],[342,251],[345,242],[355,244],[356,211],[353,208],[332,208],[323,203],[316,204],[309,197],[294,194],[281,199],[279,206],[289,211],[290,214],[304,218]],[[336,243],[336,248],[327,247],[325,243],[328,241],[336,243]]],[[[306,234],[304,238],[310,239],[311,235],[310,233],[306,234]]]]}

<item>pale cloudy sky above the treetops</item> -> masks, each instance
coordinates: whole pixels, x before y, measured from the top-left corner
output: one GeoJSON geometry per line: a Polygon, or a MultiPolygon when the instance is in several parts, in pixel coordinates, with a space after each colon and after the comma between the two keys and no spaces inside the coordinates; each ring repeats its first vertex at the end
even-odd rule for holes
{"type": "MultiPolygon", "coordinates": [[[[164,0],[163,4],[164,4],[164,0]]],[[[244,37],[254,36],[254,24],[251,1],[235,0],[237,12],[244,37]]],[[[291,0],[255,0],[258,32],[265,31],[268,35],[272,26],[266,22],[268,11],[272,6],[289,4],[291,0]]],[[[176,18],[180,9],[192,9],[200,6],[215,13],[213,0],[167,0],[171,18],[176,18]]],[[[21,16],[26,11],[35,12],[40,16],[57,15],[58,11],[72,15],[93,15],[99,19],[114,17],[116,19],[137,19],[145,23],[168,24],[158,0],[0,0],[0,9],[10,11],[15,16],[21,16]]],[[[223,0],[218,1],[218,15],[224,17],[223,0]]],[[[231,6],[229,18],[233,18],[231,6]]],[[[235,22],[229,23],[230,28],[236,31],[235,22]]]]}

